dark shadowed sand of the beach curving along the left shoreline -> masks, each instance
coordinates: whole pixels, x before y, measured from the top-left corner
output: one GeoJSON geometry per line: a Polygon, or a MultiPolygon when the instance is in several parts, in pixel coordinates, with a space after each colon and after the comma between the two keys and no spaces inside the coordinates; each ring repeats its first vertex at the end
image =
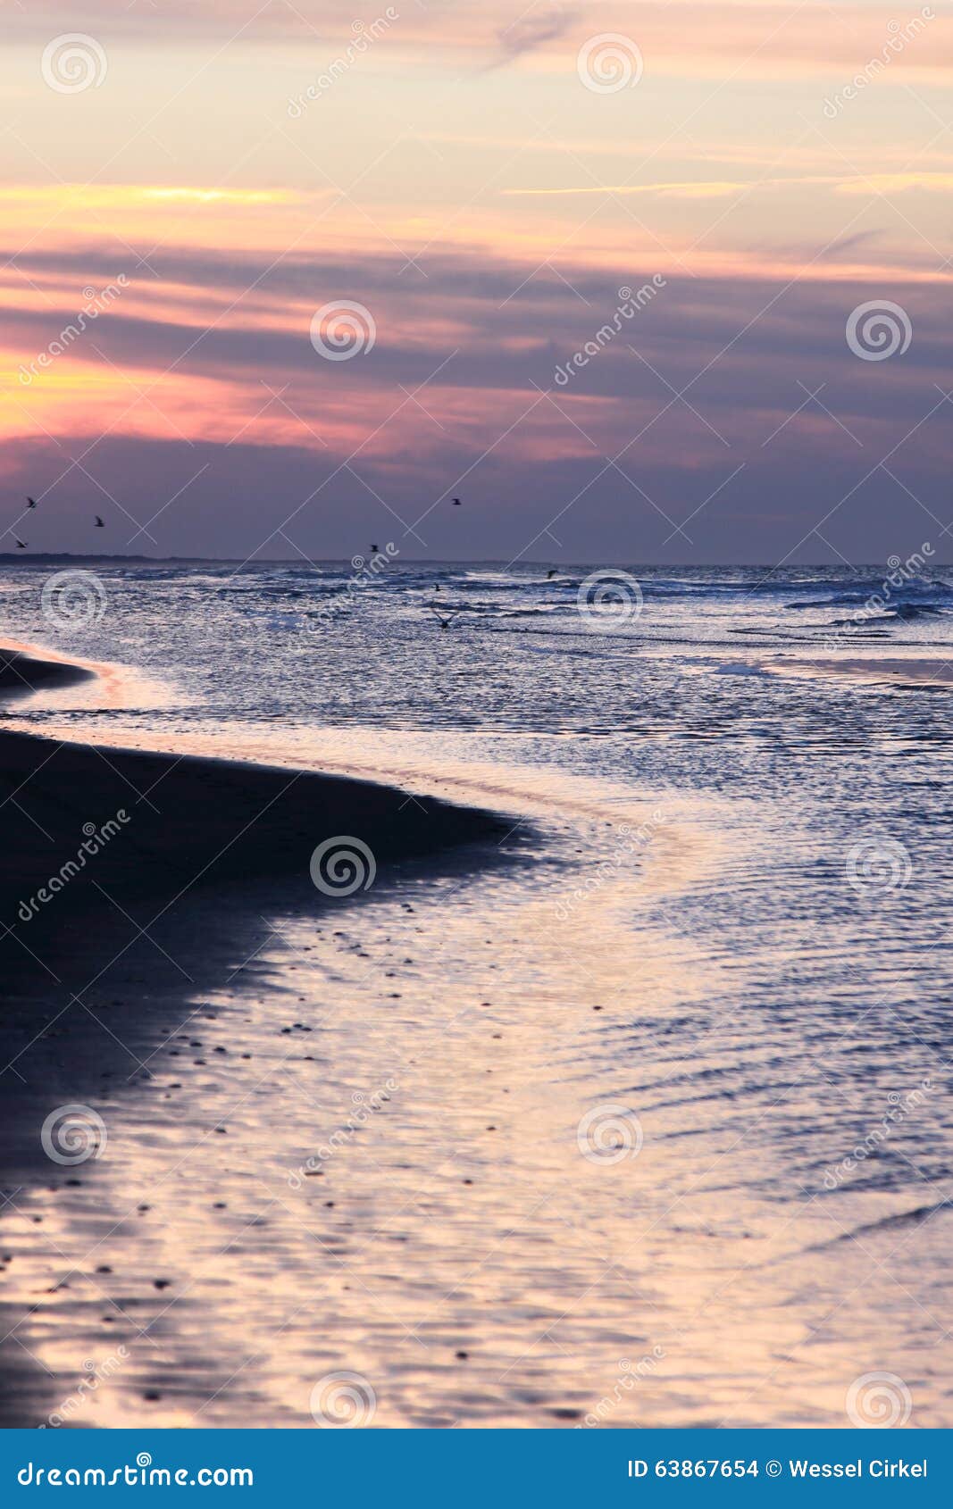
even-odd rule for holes
{"type": "MultiPolygon", "coordinates": [[[[5,650],[0,699],[88,675],[5,650]]],[[[465,845],[504,831],[488,812],[369,782],[15,732],[0,732],[0,1195],[14,1201],[77,1172],[42,1151],[47,1114],[136,1094],[163,1028],[254,954],[270,907],[359,905],[359,892],[328,901],[314,887],[317,844],[361,839],[385,886],[396,863],[453,847],[464,848],[443,863],[480,863],[495,845],[465,845]],[[107,822],[98,853],[50,893],[51,877],[91,842],[91,825],[101,833],[107,822]],[[30,907],[41,887],[50,899],[30,907]]],[[[6,1274],[0,1265],[0,1424],[36,1424],[62,1384],[17,1346],[20,1307],[3,1299],[6,1274]]]]}

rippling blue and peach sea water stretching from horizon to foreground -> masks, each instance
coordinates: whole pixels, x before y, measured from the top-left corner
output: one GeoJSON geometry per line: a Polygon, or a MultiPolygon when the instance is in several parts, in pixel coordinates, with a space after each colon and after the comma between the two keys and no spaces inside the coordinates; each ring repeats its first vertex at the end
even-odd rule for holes
{"type": "Polygon", "coordinates": [[[6,1213],[8,1299],[72,1271],[32,1355],[128,1351],[74,1421],[311,1424],[350,1387],[375,1424],[838,1426],[887,1372],[951,1423],[948,693],[803,667],[953,655],[953,592],[844,629],[879,573],[655,570],[594,629],[584,573],[103,564],[54,632],[11,572],[11,637],[127,668],[12,726],[514,819],[482,869],[266,898],[98,1108],[110,1156],[6,1213]]]}

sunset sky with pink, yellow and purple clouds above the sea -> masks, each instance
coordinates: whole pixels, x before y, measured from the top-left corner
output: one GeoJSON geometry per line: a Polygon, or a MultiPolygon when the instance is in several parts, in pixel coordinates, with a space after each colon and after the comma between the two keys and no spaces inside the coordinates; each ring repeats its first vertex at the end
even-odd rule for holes
{"type": "Polygon", "coordinates": [[[0,549],[953,558],[950,6],[0,8],[0,549]]]}

